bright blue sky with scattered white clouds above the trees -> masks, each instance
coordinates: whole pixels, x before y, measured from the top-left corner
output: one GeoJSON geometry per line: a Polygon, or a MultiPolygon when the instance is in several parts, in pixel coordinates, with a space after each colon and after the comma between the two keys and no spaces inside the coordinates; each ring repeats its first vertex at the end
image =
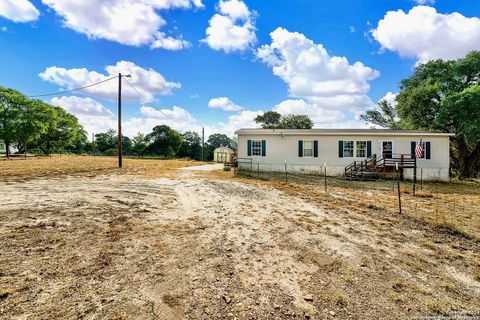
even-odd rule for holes
{"type": "MultiPolygon", "coordinates": [[[[0,85],[27,95],[131,73],[124,131],[222,132],[256,114],[362,127],[417,63],[480,50],[471,0],[0,0],[0,85]]],[[[115,128],[116,80],[44,98],[90,132],[115,128]]]]}

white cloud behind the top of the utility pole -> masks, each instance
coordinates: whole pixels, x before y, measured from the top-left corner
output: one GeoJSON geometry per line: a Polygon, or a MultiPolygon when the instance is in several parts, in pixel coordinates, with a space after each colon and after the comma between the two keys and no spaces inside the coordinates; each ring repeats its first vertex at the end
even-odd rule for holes
{"type": "MultiPolygon", "coordinates": [[[[99,73],[89,71],[86,68],[66,69],[53,66],[45,69],[39,76],[45,81],[70,90],[117,76],[118,73],[130,74],[131,78],[123,80],[122,97],[125,99],[142,99],[126,83],[127,81],[148,100],[153,99],[155,95],[171,94],[173,89],[181,87],[180,83],[167,81],[159,72],[151,68],[142,68],[130,61],[119,61],[115,65],[106,66],[105,71],[106,73],[99,73]]],[[[86,88],[83,92],[100,98],[115,99],[118,92],[118,80],[110,80],[97,86],[86,88]]]]}

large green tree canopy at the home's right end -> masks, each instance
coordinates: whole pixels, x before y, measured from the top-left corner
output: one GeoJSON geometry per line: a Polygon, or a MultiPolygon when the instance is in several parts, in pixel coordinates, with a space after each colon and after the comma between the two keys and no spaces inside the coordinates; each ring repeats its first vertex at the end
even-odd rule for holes
{"type": "Polygon", "coordinates": [[[396,110],[380,103],[362,119],[383,127],[453,133],[451,162],[460,178],[480,161],[480,52],[418,65],[401,81],[396,110]],[[399,122],[395,122],[395,111],[399,122]]]}

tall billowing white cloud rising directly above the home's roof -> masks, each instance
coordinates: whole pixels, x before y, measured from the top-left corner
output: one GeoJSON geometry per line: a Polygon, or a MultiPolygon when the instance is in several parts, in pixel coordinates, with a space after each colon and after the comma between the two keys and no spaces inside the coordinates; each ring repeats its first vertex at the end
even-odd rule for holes
{"type": "Polygon", "coordinates": [[[373,105],[367,96],[369,81],[379,72],[346,57],[332,56],[305,35],[277,28],[271,44],[262,45],[257,57],[272,68],[297,99],[281,102],[282,114],[306,114],[316,126],[348,121],[346,112],[357,114],[373,105]],[[336,121],[336,122],[333,122],[336,121]]]}

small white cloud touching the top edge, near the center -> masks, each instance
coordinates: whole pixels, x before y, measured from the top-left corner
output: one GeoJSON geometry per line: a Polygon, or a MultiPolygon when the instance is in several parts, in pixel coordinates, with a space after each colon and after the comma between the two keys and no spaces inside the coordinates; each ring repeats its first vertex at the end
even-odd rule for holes
{"type": "Polygon", "coordinates": [[[214,50],[243,51],[256,43],[254,12],[241,0],[220,0],[202,41],[214,50]]]}

